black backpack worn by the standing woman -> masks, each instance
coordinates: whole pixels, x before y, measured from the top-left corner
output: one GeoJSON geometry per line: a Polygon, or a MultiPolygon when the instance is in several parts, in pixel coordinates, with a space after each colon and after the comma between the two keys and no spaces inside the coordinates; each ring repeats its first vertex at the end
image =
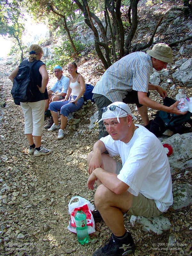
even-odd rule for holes
{"type": "Polygon", "coordinates": [[[35,61],[31,66],[25,65],[20,67],[17,76],[13,79],[11,94],[16,105],[20,105],[20,102],[28,102],[33,99],[31,70],[38,61],[35,61]]]}

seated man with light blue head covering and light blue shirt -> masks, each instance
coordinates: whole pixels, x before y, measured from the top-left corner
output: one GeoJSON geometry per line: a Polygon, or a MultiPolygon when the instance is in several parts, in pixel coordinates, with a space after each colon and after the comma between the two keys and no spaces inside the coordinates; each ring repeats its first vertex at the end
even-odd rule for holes
{"type": "MultiPolygon", "coordinates": [[[[63,100],[67,94],[69,87],[69,78],[63,76],[63,69],[57,65],[53,68],[54,75],[57,77],[57,82],[48,90],[49,99],[45,100],[45,113],[49,108],[49,104],[52,101],[63,100]],[[55,94],[57,92],[57,94],[55,94]]],[[[51,112],[50,112],[51,115],[51,112]]],[[[51,117],[49,122],[44,126],[45,129],[49,129],[53,124],[53,118],[51,117]]]]}

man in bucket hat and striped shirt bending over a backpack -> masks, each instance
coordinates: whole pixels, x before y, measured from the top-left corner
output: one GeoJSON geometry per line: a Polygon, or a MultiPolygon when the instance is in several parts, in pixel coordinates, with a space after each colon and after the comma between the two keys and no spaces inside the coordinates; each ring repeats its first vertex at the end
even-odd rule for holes
{"type": "MultiPolygon", "coordinates": [[[[182,115],[177,109],[179,101],[166,107],[148,98],[148,90],[156,90],[163,98],[167,95],[160,86],[149,84],[149,79],[153,68],[159,71],[166,68],[168,63],[173,63],[172,49],[162,43],[155,44],[147,53],[133,52],[116,61],[105,71],[92,91],[99,109],[98,120],[101,119],[102,107],[115,101],[135,103],[146,128],[149,128],[147,107],[182,115]]],[[[100,121],[99,138],[107,135],[100,121]]]]}

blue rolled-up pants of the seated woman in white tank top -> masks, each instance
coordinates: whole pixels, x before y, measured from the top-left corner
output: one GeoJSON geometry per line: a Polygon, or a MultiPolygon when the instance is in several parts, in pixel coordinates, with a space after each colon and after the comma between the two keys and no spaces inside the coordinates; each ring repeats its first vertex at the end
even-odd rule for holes
{"type": "Polygon", "coordinates": [[[53,101],[49,104],[49,110],[53,112],[57,112],[60,110],[60,114],[63,116],[68,117],[69,113],[77,111],[79,108],[83,106],[84,99],[81,97],[79,100],[77,100],[76,104],[75,103],[69,103],[71,100],[75,100],[77,96],[71,95],[69,100],[66,101],[53,101]]]}

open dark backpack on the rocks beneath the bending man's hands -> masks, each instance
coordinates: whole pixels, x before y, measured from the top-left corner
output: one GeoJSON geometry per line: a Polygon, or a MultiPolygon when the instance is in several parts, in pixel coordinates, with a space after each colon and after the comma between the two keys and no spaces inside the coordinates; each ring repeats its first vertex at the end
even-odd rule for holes
{"type": "MultiPolygon", "coordinates": [[[[176,100],[165,97],[163,99],[164,106],[170,107],[176,100]]],[[[192,113],[187,112],[185,115],[175,115],[158,110],[155,118],[150,120],[150,132],[154,133],[157,137],[161,136],[165,130],[170,129],[174,133],[183,133],[188,130],[190,132],[192,127],[192,113]],[[187,126],[188,125],[188,126],[187,126]]]]}

